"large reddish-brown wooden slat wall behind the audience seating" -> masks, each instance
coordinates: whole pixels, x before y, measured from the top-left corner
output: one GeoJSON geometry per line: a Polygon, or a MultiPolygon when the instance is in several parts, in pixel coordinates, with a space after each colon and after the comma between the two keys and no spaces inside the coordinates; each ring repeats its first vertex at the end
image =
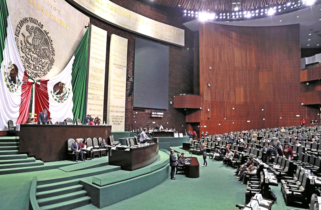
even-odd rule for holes
{"type": "Polygon", "coordinates": [[[201,131],[298,126],[315,118],[317,109],[301,105],[300,70],[299,24],[200,24],[201,131]]]}

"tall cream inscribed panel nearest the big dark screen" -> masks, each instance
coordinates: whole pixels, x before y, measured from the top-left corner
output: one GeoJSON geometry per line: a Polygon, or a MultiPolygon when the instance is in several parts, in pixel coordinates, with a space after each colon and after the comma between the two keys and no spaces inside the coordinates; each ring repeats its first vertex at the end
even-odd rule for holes
{"type": "Polygon", "coordinates": [[[111,35],[109,51],[107,123],[112,131],[125,129],[127,39],[111,35]]]}

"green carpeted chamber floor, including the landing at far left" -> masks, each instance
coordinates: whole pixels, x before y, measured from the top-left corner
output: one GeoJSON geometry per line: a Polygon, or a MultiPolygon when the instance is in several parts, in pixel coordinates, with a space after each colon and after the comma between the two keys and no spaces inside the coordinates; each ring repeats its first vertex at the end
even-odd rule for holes
{"type": "MultiPolygon", "coordinates": [[[[187,156],[189,156],[188,152],[187,156]]],[[[200,164],[203,164],[202,156],[196,157],[199,159],[200,164]]],[[[233,176],[235,169],[225,167],[222,165],[222,161],[212,161],[211,159],[207,159],[207,161],[208,167],[200,167],[199,178],[191,179],[186,178],[185,175],[176,175],[176,180],[167,179],[149,191],[103,209],[231,210],[235,208],[235,204],[244,205],[246,185],[240,184],[236,177],[233,176]]],[[[59,169],[52,169],[0,175],[0,209],[28,209],[30,185],[33,176],[38,176],[38,180],[45,180],[74,173],[77,173],[77,171],[66,173],[59,169]]],[[[272,210],[286,210],[288,208],[303,210],[300,206],[285,206],[280,183],[279,187],[271,187],[271,189],[278,197],[272,210]]],[[[92,205],[78,208],[78,210],[82,209],[90,210],[98,208],[92,205]]]]}

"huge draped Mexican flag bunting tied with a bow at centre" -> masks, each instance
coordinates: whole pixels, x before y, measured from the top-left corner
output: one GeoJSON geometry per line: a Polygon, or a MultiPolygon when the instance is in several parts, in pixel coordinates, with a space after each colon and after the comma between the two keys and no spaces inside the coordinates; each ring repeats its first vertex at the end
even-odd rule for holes
{"type": "MultiPolygon", "coordinates": [[[[67,66],[53,78],[34,80],[24,69],[10,23],[6,0],[0,0],[0,130],[8,120],[25,123],[30,113],[48,110],[53,122],[83,121],[89,28],[67,66]]],[[[37,119],[36,119],[37,121],[37,119]]]]}

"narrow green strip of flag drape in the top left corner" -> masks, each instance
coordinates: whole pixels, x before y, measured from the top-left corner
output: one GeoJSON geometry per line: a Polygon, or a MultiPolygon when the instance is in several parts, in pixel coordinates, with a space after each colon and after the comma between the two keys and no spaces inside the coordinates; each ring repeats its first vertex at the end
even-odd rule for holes
{"type": "Polygon", "coordinates": [[[4,43],[7,37],[7,27],[8,27],[8,8],[5,0],[0,0],[0,64],[2,63],[4,43]]]}

